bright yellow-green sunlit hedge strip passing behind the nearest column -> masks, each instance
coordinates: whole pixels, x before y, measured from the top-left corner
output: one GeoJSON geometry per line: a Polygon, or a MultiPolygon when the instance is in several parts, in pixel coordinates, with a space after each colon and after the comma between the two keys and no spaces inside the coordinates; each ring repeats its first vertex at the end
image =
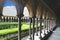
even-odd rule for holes
{"type": "MultiPolygon", "coordinates": [[[[28,30],[29,26],[30,25],[23,24],[22,27],[21,27],[21,30],[22,31],[28,30]]],[[[35,25],[35,28],[36,28],[36,25],[35,25]]],[[[4,30],[0,30],[0,35],[6,35],[6,34],[9,34],[9,33],[15,33],[15,32],[18,32],[18,28],[4,29],[4,30]]]]}

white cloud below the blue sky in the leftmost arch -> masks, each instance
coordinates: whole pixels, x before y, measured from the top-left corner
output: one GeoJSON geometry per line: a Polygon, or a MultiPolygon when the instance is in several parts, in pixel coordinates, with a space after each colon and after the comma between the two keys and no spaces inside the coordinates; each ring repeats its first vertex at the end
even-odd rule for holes
{"type": "Polygon", "coordinates": [[[3,8],[3,15],[4,16],[16,16],[17,10],[15,6],[5,6],[3,8]]]}

